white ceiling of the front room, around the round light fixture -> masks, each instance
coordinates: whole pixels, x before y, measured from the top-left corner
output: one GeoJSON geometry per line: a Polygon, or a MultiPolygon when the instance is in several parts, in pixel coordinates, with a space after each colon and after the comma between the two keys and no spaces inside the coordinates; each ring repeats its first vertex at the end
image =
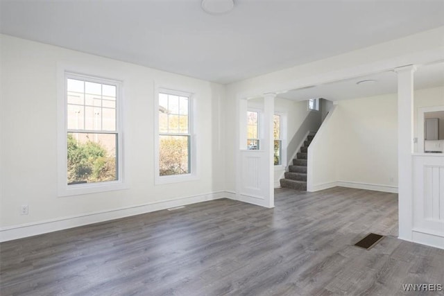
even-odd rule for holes
{"type": "Polygon", "coordinates": [[[229,83],[444,25],[443,0],[0,0],[0,31],[229,83]]]}

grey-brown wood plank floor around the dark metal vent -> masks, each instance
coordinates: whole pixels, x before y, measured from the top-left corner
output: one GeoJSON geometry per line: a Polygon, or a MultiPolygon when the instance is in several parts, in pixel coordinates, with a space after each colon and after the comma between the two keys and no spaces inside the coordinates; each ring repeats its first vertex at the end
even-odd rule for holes
{"type": "Polygon", "coordinates": [[[397,234],[393,193],[277,189],[274,209],[214,200],[1,243],[0,294],[416,295],[402,284],[443,285],[444,250],[397,234]],[[386,238],[353,246],[369,232],[386,238]]]}

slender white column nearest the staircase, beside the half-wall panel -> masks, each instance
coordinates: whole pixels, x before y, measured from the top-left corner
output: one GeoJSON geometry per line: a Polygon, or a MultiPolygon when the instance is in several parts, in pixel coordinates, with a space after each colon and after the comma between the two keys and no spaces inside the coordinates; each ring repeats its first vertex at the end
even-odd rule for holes
{"type": "Polygon", "coordinates": [[[266,153],[266,180],[268,181],[268,207],[274,207],[275,191],[274,191],[274,135],[273,135],[273,116],[275,114],[275,97],[276,94],[264,94],[264,140],[262,148],[266,153]]]}

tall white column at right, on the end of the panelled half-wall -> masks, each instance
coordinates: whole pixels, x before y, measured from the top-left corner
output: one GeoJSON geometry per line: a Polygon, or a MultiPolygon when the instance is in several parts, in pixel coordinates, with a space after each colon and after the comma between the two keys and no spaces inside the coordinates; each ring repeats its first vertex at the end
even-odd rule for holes
{"type": "Polygon", "coordinates": [[[398,204],[399,238],[411,241],[413,227],[413,65],[398,73],[398,204]]]}

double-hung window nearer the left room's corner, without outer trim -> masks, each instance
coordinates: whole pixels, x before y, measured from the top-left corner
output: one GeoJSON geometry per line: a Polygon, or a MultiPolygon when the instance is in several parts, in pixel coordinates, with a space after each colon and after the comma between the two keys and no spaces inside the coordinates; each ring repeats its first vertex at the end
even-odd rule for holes
{"type": "Polygon", "coordinates": [[[189,94],[159,92],[159,175],[191,173],[189,94]]]}

